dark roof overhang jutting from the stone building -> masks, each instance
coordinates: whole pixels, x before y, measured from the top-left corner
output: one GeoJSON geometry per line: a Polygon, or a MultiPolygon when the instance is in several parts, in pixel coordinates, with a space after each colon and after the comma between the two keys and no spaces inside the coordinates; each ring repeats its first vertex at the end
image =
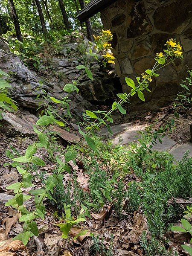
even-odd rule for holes
{"type": "Polygon", "coordinates": [[[76,18],[78,18],[80,22],[84,22],[116,1],[117,0],[91,0],[90,3],[79,12],[76,18]]]}

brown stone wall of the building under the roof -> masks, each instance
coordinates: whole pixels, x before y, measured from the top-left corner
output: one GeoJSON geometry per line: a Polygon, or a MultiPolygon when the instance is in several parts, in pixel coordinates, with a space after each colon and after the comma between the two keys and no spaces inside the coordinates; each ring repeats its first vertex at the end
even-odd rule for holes
{"type": "MultiPolygon", "coordinates": [[[[151,93],[145,92],[143,108],[159,108],[172,99],[187,68],[192,68],[192,0],[117,0],[102,11],[101,18],[104,28],[113,33],[116,73],[126,92],[126,76],[135,79],[150,68],[169,38],[181,42],[184,61],[160,70],[150,84],[151,93]]],[[[134,102],[140,101],[135,97],[134,102]]]]}

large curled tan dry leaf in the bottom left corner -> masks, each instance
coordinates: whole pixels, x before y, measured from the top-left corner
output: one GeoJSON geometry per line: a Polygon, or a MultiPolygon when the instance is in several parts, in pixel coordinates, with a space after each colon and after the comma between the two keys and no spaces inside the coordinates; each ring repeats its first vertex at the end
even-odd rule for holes
{"type": "Polygon", "coordinates": [[[12,241],[11,239],[7,240],[3,246],[0,247],[0,255],[1,256],[12,256],[18,250],[26,251],[26,246],[19,240],[12,241]]]}

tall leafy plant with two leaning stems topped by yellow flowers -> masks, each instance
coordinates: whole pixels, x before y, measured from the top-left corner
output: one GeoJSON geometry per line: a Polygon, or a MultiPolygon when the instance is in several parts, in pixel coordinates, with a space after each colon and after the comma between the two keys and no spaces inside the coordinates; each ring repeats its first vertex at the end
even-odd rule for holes
{"type": "MultiPolygon", "coordinates": [[[[111,48],[111,44],[108,43],[109,40],[112,39],[112,35],[110,31],[102,31],[101,35],[95,37],[95,43],[91,44],[92,49],[90,49],[89,55],[92,56],[92,58],[95,58],[98,60],[98,55],[102,55],[104,57],[104,60],[102,61],[101,65],[106,65],[108,63],[114,62],[113,55],[109,52],[111,48]]],[[[56,119],[57,112],[52,113],[52,111],[47,110],[47,113],[42,116],[38,121],[36,122],[36,125],[34,125],[34,131],[38,135],[38,139],[35,143],[28,146],[26,149],[26,152],[23,156],[13,158],[12,160],[15,163],[25,164],[25,167],[21,168],[20,166],[17,166],[17,171],[22,175],[22,179],[20,182],[14,183],[7,187],[7,189],[10,189],[14,191],[15,197],[11,200],[9,200],[6,205],[12,206],[16,208],[20,214],[21,217],[19,218],[20,222],[24,222],[23,224],[23,232],[17,235],[14,239],[19,239],[23,241],[23,244],[27,244],[29,241],[29,238],[32,236],[38,236],[38,226],[35,221],[37,218],[44,219],[46,214],[46,206],[44,204],[44,200],[46,198],[52,199],[52,194],[54,192],[55,186],[59,182],[61,182],[64,179],[64,172],[70,173],[70,166],[68,165],[69,161],[73,161],[75,163],[76,157],[78,156],[79,152],[81,152],[82,143],[84,141],[87,142],[88,146],[90,147],[90,150],[98,151],[96,144],[94,142],[94,139],[92,137],[93,132],[96,129],[99,129],[101,125],[106,125],[108,130],[111,132],[110,126],[107,122],[113,123],[113,119],[111,114],[113,111],[119,110],[122,114],[126,113],[126,110],[122,107],[122,105],[125,102],[128,102],[129,98],[137,93],[138,97],[145,101],[144,93],[143,91],[148,90],[148,85],[150,81],[152,81],[152,78],[159,76],[156,72],[160,70],[161,68],[165,67],[168,64],[171,64],[175,61],[176,58],[182,58],[182,52],[177,52],[180,45],[176,43],[175,40],[170,40],[167,42],[167,49],[164,50],[165,54],[158,53],[157,58],[155,58],[156,63],[154,64],[154,67],[152,67],[151,70],[145,70],[145,74],[142,74],[141,77],[136,78],[136,83],[130,79],[126,78],[125,81],[128,84],[129,87],[131,87],[130,93],[119,93],[117,96],[119,97],[118,102],[113,102],[112,108],[110,111],[86,111],[87,115],[90,116],[90,118],[93,119],[93,122],[90,126],[86,127],[86,131],[81,131],[79,128],[79,133],[82,135],[81,140],[76,145],[70,146],[67,148],[66,153],[64,155],[64,162],[62,162],[59,157],[56,157],[56,161],[59,165],[59,168],[56,173],[53,173],[52,175],[49,175],[47,177],[47,180],[45,181],[45,184],[40,189],[32,189],[29,191],[30,195],[23,195],[23,188],[32,187],[32,174],[31,174],[31,165],[35,164],[37,166],[45,166],[46,163],[44,160],[42,160],[40,157],[35,156],[35,153],[38,151],[38,148],[48,148],[48,137],[46,134],[46,129],[49,125],[52,124],[58,124],[63,126],[63,122],[56,119]],[[41,130],[40,130],[41,128],[41,130]],[[32,198],[34,196],[35,201],[35,209],[34,210],[28,210],[23,205],[23,202],[28,200],[29,198],[32,198]]],[[[79,65],[76,67],[79,70],[82,70],[81,76],[84,74],[87,74],[87,76],[90,79],[93,79],[93,73],[91,71],[92,67],[90,64],[86,63],[84,65],[79,65]]],[[[66,84],[64,86],[64,91],[67,93],[72,93],[73,91],[79,92],[79,80],[73,81],[70,84],[66,84]]],[[[69,101],[68,97],[66,96],[64,99],[58,100],[55,98],[51,98],[53,102],[58,103],[60,106],[64,106],[68,108],[69,101]]],[[[59,108],[58,108],[59,109],[59,108]]],[[[32,208],[33,209],[33,208],[32,208]]],[[[67,209],[67,208],[66,208],[67,209]]],[[[67,210],[68,211],[68,210],[67,210]]],[[[66,219],[67,216],[66,216],[66,219]]],[[[70,221],[71,218],[70,218],[70,221]]],[[[64,234],[68,234],[70,228],[73,224],[75,224],[75,221],[67,222],[65,221],[65,226],[62,226],[62,232],[64,234]],[[67,230],[64,230],[64,229],[67,230]]]]}

